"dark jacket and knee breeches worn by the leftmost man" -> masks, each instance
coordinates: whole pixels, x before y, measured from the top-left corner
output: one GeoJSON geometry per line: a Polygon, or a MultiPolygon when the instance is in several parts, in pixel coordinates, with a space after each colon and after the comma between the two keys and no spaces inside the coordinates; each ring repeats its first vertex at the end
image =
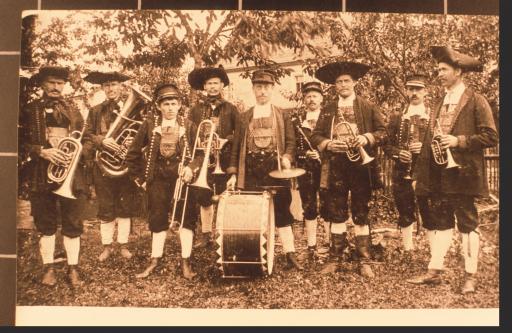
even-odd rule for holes
{"type": "MultiPolygon", "coordinates": [[[[83,119],[78,109],[59,100],[45,105],[43,100],[35,101],[27,107],[29,121],[29,133],[24,138],[22,145],[47,149],[57,147],[59,139],[67,137],[72,130],[81,130],[83,119]],[[61,111],[58,112],[56,109],[61,111]],[[56,113],[59,113],[56,116],[56,113]]],[[[47,176],[49,161],[39,157],[38,154],[30,154],[31,164],[31,191],[29,194],[31,214],[39,232],[43,235],[54,235],[59,223],[62,225],[62,234],[74,238],[83,232],[81,220],[82,212],[86,204],[86,187],[83,178],[83,164],[79,162],[75,171],[72,186],[76,199],[68,199],[52,191],[59,187],[50,183],[47,176]]]]}

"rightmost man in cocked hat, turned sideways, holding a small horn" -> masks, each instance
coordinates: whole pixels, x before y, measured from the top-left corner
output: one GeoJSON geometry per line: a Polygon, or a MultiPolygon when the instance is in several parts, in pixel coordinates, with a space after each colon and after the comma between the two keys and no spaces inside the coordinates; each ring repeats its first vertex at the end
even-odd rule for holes
{"type": "Polygon", "coordinates": [[[488,195],[483,149],[495,146],[498,134],[489,103],[462,79],[466,72],[481,71],[481,62],[450,47],[433,46],[431,52],[445,94],[430,115],[414,173],[431,257],[428,272],[408,282],[442,282],[456,220],[465,264],[461,292],[466,294],[475,291],[480,246],[475,197],[488,195]]]}

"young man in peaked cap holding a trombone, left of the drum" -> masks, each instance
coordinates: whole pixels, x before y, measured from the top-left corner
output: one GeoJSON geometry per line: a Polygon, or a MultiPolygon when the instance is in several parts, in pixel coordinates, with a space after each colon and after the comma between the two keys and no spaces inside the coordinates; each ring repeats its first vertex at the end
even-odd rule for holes
{"type": "MultiPolygon", "coordinates": [[[[196,128],[189,120],[177,116],[182,97],[176,85],[160,85],[155,89],[154,96],[157,111],[142,123],[126,157],[130,177],[146,190],[148,199],[148,223],[152,235],[151,262],[142,273],[136,275],[141,278],[151,274],[163,255],[169,229],[169,211],[178,177],[181,176],[185,183],[190,182],[193,178],[192,170],[201,162],[200,159],[191,161],[183,168],[182,175],[178,174],[183,151],[191,149],[196,128]],[[145,162],[142,152],[144,147],[147,147],[145,162]]],[[[191,205],[187,205],[179,233],[182,272],[187,279],[196,275],[190,264],[196,222],[192,212],[191,205]]]]}

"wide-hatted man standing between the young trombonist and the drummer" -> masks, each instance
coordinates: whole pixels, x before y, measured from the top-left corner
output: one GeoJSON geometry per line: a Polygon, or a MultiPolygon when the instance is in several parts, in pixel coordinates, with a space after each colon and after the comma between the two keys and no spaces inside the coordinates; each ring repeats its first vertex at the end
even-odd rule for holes
{"type": "MultiPolygon", "coordinates": [[[[193,197],[200,205],[202,231],[202,236],[197,237],[198,242],[195,247],[204,247],[212,244],[211,233],[214,217],[212,197],[219,195],[226,189],[227,175],[225,170],[229,164],[233,133],[239,112],[236,106],[222,98],[222,89],[229,85],[228,75],[222,67],[194,69],[188,75],[188,82],[193,89],[206,92],[206,98],[190,109],[188,118],[196,126],[199,126],[203,120],[213,121],[216,135],[212,142],[212,152],[214,152],[215,164],[220,166],[220,170],[218,168],[215,170],[215,166],[208,168],[208,185],[214,193],[207,188],[194,187],[193,189],[195,192],[193,197]]],[[[208,136],[203,133],[200,137],[204,139],[208,136]]]]}

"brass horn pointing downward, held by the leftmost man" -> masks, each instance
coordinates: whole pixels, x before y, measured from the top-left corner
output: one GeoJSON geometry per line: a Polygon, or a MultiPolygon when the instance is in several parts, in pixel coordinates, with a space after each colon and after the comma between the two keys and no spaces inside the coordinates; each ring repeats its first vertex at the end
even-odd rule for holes
{"type": "Polygon", "coordinates": [[[72,186],[75,179],[76,168],[82,154],[82,143],[80,142],[82,135],[83,130],[82,132],[73,131],[69,137],[62,138],[59,141],[57,149],[70,156],[70,161],[67,165],[57,165],[54,163],[48,165],[49,182],[60,184],[60,187],[54,190],[53,193],[64,198],[76,199],[73,195],[72,186]],[[73,135],[76,133],[78,134],[78,138],[73,138],[73,135]]]}

